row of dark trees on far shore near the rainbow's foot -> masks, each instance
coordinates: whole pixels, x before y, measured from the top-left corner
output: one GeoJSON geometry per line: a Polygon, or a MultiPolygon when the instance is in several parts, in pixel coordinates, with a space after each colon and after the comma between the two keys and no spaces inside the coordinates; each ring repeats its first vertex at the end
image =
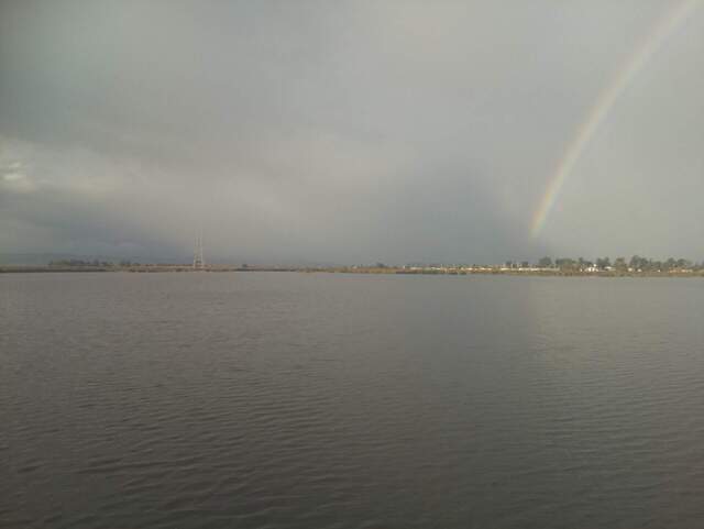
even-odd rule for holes
{"type": "Polygon", "coordinates": [[[703,271],[703,263],[694,263],[686,258],[670,257],[667,261],[657,261],[640,255],[634,255],[630,260],[616,257],[613,262],[609,257],[598,257],[588,261],[583,257],[560,257],[554,261],[552,257],[542,257],[537,266],[539,268],[557,268],[563,272],[588,272],[588,271],[615,271],[615,272],[676,272],[676,271],[703,271]]]}

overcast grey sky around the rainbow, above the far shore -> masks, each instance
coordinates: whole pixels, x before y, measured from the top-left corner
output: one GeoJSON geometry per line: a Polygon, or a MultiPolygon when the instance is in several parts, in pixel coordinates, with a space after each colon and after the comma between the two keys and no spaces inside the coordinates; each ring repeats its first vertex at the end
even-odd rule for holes
{"type": "Polygon", "coordinates": [[[704,2],[2,1],[0,253],[704,260],[704,2]]]}

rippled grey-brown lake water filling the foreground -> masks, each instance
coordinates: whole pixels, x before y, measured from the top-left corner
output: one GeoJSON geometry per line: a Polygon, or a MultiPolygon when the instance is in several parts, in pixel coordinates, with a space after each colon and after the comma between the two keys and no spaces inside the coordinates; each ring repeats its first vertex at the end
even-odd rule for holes
{"type": "Polygon", "coordinates": [[[0,275],[0,527],[704,527],[704,280],[0,275]]]}

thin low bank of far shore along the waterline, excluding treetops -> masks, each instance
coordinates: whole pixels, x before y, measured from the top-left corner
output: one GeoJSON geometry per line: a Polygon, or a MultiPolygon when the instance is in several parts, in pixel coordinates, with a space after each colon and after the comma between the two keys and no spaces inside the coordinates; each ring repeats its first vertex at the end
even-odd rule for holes
{"type": "Polygon", "coordinates": [[[530,277],[704,277],[704,271],[678,269],[668,272],[637,271],[561,271],[559,268],[503,268],[503,267],[366,267],[366,266],[228,266],[210,265],[194,268],[191,265],[135,265],[135,266],[0,266],[0,274],[34,273],[175,273],[175,272],[298,272],[326,274],[384,274],[384,275],[507,275],[530,277]]]}

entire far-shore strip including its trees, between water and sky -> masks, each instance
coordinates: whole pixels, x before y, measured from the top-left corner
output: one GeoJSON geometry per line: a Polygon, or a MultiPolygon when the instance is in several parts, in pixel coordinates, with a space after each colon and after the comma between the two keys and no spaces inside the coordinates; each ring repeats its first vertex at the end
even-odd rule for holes
{"type": "Polygon", "coordinates": [[[704,277],[704,263],[695,264],[684,258],[653,261],[634,255],[629,261],[624,257],[613,263],[608,257],[594,262],[582,257],[558,258],[543,257],[538,263],[506,262],[499,265],[468,264],[411,264],[411,265],[374,265],[352,266],[263,266],[263,265],[206,265],[194,267],[191,264],[144,264],[122,261],[65,260],[53,261],[44,266],[0,265],[0,273],[72,273],[72,272],[301,272],[301,273],[339,273],[339,274],[398,274],[398,275],[522,275],[522,276],[590,276],[590,277],[704,277]]]}

